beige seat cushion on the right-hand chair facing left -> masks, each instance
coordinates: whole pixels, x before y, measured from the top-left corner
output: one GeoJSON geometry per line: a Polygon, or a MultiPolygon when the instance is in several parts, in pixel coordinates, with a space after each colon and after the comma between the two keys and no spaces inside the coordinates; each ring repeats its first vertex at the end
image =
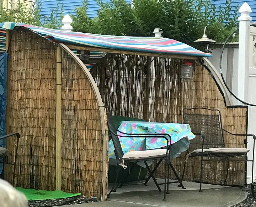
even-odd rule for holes
{"type": "MultiPolygon", "coordinates": [[[[208,154],[217,154],[217,153],[225,153],[225,154],[239,153],[239,154],[246,154],[249,151],[250,150],[246,149],[246,148],[218,147],[218,148],[204,149],[203,150],[203,156],[207,156],[208,154]]],[[[201,156],[201,153],[202,153],[202,149],[195,149],[188,156],[189,157],[201,156]]]]}

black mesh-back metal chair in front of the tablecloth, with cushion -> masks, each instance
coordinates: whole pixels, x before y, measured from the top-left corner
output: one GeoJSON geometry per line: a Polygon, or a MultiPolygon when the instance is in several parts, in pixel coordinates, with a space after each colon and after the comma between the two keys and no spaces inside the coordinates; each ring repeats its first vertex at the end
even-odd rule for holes
{"type": "MultiPolygon", "coordinates": [[[[127,163],[137,163],[137,162],[144,162],[144,164],[146,165],[146,168],[149,171],[150,177],[153,179],[156,187],[158,188],[159,192],[161,192],[161,189],[159,187],[160,184],[158,184],[156,182],[156,179],[153,175],[155,169],[158,167],[158,165],[161,163],[161,161],[164,159],[165,160],[165,181],[164,181],[164,199],[166,200],[166,194],[169,193],[169,173],[167,176],[167,167],[168,167],[168,171],[169,171],[169,166],[171,168],[172,165],[170,164],[170,159],[169,159],[169,146],[168,146],[168,142],[170,141],[171,137],[168,134],[126,134],[121,132],[124,135],[117,135],[117,131],[115,126],[114,126],[114,122],[112,120],[112,116],[110,112],[107,112],[107,124],[108,124],[108,129],[110,131],[111,134],[111,138],[113,141],[113,145],[114,145],[114,153],[116,155],[116,159],[117,159],[117,167],[122,166],[124,169],[126,169],[126,164],[127,163]],[[168,138],[166,138],[169,137],[168,138]],[[151,149],[151,150],[145,150],[145,151],[131,151],[131,152],[127,152],[126,154],[123,153],[120,141],[119,141],[119,137],[129,137],[129,138],[138,138],[138,137],[146,137],[146,138],[154,138],[154,137],[158,137],[158,138],[165,138],[167,141],[167,146],[166,149],[151,149]],[[150,170],[148,164],[146,161],[149,160],[157,160],[159,159],[159,163],[158,165],[156,165],[155,169],[153,171],[150,170]],[[166,177],[167,178],[167,183],[166,183],[166,177]],[[166,191],[166,184],[167,184],[167,191],[166,191]]],[[[171,142],[171,141],[170,141],[171,142]]],[[[134,166],[134,165],[133,165],[134,166]]],[[[174,168],[173,168],[174,170],[174,168]]],[[[118,179],[118,171],[117,170],[117,177],[116,177],[116,181],[115,184],[117,182],[118,179]]],[[[129,175],[129,171],[132,171],[132,168],[130,170],[127,170],[127,176],[126,178],[128,178],[129,175]]],[[[175,171],[175,170],[174,170],[175,171]]],[[[176,177],[178,179],[178,183],[180,183],[180,185],[183,187],[182,183],[181,183],[181,179],[178,178],[177,173],[175,172],[176,177]]],[[[108,193],[108,196],[111,194],[112,191],[115,191],[117,189],[117,187],[121,187],[123,185],[123,183],[126,180],[122,181],[122,183],[118,183],[117,185],[114,185],[111,189],[111,191],[108,193]]],[[[176,182],[175,182],[176,183],[176,182]]],[[[184,187],[183,187],[184,188],[184,187]]]]}

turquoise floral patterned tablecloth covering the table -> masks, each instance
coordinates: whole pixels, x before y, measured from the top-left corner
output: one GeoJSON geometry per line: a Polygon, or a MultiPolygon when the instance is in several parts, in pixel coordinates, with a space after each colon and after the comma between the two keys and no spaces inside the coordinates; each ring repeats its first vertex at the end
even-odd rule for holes
{"type": "MultiPolygon", "coordinates": [[[[169,134],[171,136],[171,158],[180,156],[181,152],[188,149],[191,139],[195,135],[191,132],[188,124],[174,123],[156,123],[145,121],[122,121],[118,128],[119,131],[128,134],[169,134]]],[[[118,135],[123,135],[118,133],[118,135]]],[[[169,137],[166,136],[166,138],[169,137]]],[[[156,149],[167,145],[165,138],[129,138],[119,137],[124,154],[129,151],[143,151],[146,149],[156,149]]],[[[109,142],[108,155],[110,158],[115,158],[114,145],[112,140],[109,142]]]]}

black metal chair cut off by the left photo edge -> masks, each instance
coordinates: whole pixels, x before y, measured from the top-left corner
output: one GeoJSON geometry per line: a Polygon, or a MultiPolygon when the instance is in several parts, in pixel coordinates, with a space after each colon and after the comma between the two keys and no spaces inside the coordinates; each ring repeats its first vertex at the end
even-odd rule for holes
{"type": "Polygon", "coordinates": [[[10,163],[9,162],[9,159],[8,159],[8,152],[9,150],[4,148],[4,147],[0,147],[0,163],[4,163],[4,164],[11,164],[11,165],[14,165],[14,172],[13,172],[13,175],[12,175],[12,182],[13,182],[13,185],[15,184],[15,170],[16,170],[16,163],[17,163],[17,154],[18,154],[18,142],[19,142],[19,139],[20,139],[20,134],[17,133],[17,132],[14,132],[14,133],[11,133],[11,134],[7,134],[5,136],[1,136],[0,137],[0,140],[2,139],[5,139],[7,137],[11,137],[11,136],[14,136],[16,135],[17,137],[17,143],[16,143],[16,151],[15,151],[15,160],[14,160],[14,163],[10,163]]]}

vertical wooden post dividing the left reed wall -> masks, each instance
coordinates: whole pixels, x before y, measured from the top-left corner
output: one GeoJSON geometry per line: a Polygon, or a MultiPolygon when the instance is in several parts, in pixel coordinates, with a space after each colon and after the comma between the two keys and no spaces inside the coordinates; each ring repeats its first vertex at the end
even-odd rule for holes
{"type": "Polygon", "coordinates": [[[62,49],[56,50],[56,189],[61,189],[62,49]]]}

